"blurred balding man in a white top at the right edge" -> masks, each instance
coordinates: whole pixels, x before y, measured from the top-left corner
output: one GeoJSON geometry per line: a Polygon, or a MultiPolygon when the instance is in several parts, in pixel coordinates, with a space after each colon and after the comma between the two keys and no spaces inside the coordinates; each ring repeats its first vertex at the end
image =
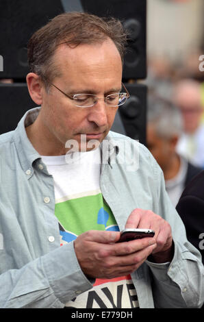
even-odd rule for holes
{"type": "Polygon", "coordinates": [[[182,79],[175,85],[175,104],[183,116],[183,134],[177,151],[196,166],[204,168],[204,126],[201,84],[194,79],[182,79]]]}

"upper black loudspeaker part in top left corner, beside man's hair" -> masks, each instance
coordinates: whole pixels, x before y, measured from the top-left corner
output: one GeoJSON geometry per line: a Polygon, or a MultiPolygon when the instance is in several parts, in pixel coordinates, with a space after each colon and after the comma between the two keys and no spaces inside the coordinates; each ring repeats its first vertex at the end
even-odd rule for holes
{"type": "Polygon", "coordinates": [[[64,12],[60,0],[1,0],[0,55],[1,78],[25,79],[29,72],[27,42],[49,19],[64,12]]]}

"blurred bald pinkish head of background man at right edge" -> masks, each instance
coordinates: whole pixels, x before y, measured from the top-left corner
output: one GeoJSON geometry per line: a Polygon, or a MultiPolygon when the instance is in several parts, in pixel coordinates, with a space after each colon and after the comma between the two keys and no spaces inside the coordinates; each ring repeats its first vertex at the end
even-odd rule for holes
{"type": "Polygon", "coordinates": [[[184,131],[194,133],[203,113],[201,85],[193,79],[183,79],[175,86],[175,104],[183,116],[184,131]]]}

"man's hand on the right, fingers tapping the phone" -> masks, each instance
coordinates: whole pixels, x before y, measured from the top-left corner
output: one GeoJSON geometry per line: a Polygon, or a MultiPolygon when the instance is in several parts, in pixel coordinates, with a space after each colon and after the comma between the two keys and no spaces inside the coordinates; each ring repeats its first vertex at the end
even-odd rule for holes
{"type": "Polygon", "coordinates": [[[157,246],[153,249],[153,260],[157,263],[173,259],[173,238],[167,221],[151,210],[135,209],[129,215],[125,228],[146,228],[155,231],[157,246]]]}

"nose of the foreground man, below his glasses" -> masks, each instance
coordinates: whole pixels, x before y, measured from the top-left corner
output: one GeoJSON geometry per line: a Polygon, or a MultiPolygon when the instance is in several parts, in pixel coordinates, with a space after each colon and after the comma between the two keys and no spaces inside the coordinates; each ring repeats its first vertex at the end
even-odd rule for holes
{"type": "Polygon", "coordinates": [[[94,122],[98,127],[107,125],[107,107],[105,104],[105,99],[98,99],[97,103],[90,108],[90,113],[88,114],[88,121],[94,122]]]}

